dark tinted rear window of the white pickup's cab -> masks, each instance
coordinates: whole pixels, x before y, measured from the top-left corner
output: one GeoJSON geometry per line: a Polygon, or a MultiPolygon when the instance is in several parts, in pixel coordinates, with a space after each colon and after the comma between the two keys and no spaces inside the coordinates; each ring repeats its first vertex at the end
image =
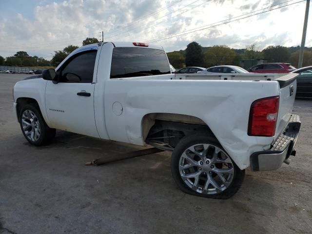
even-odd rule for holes
{"type": "Polygon", "coordinates": [[[163,50],[117,47],[113,50],[111,78],[170,74],[163,50]]]}

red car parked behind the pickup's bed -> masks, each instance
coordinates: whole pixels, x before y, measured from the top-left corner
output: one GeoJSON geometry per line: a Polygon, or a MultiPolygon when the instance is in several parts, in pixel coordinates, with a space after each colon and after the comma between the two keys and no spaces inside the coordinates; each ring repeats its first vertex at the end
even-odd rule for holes
{"type": "Polygon", "coordinates": [[[290,63],[261,63],[248,69],[254,73],[290,73],[296,70],[290,63]]]}

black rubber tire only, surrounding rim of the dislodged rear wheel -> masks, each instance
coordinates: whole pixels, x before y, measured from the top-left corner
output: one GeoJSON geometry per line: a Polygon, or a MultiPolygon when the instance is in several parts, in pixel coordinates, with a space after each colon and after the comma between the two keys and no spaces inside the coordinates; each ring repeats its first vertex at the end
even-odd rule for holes
{"type": "MultiPolygon", "coordinates": [[[[172,172],[172,175],[174,177],[174,180],[176,181],[177,186],[183,192],[191,194],[191,195],[209,197],[209,198],[215,198],[215,199],[228,199],[228,198],[230,198],[240,188],[240,186],[244,180],[244,177],[245,177],[245,170],[240,170],[237,167],[237,165],[234,163],[234,161],[228,155],[227,156],[232,160],[231,167],[234,169],[234,175],[232,177],[233,179],[232,179],[231,184],[228,187],[226,187],[226,189],[223,190],[222,192],[219,192],[216,194],[208,194],[208,192],[204,193],[205,191],[202,191],[202,193],[199,193],[199,192],[196,192],[195,190],[191,189],[186,184],[186,182],[183,181],[183,179],[180,175],[180,171],[179,171],[180,158],[181,158],[182,154],[184,153],[184,151],[186,151],[189,147],[191,147],[193,145],[197,145],[197,144],[210,144],[210,145],[218,147],[219,149],[221,149],[222,151],[225,152],[225,150],[222,148],[222,146],[219,144],[219,142],[214,137],[207,136],[207,135],[190,135],[190,136],[183,137],[178,142],[178,144],[176,145],[175,150],[172,154],[172,158],[171,158],[171,172],[172,172]]],[[[201,168],[199,168],[199,169],[201,169],[201,168]]],[[[201,169],[201,170],[204,170],[204,169],[201,169]]],[[[197,171],[197,172],[199,172],[199,171],[197,171]]],[[[206,173],[206,172],[204,172],[204,173],[206,173]]],[[[209,174],[210,173],[212,173],[212,172],[209,172],[209,174]]],[[[208,172],[205,175],[209,176],[208,172]]]]}

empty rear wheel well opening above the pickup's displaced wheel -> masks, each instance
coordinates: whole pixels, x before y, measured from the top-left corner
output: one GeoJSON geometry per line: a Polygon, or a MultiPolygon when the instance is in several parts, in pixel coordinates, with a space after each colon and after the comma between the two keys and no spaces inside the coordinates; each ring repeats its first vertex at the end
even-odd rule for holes
{"type": "MultiPolygon", "coordinates": [[[[215,137],[209,126],[200,118],[180,114],[152,113],[142,119],[142,136],[147,144],[174,148],[187,135],[205,134],[215,137]]],[[[217,139],[216,139],[217,140],[217,139]]]]}

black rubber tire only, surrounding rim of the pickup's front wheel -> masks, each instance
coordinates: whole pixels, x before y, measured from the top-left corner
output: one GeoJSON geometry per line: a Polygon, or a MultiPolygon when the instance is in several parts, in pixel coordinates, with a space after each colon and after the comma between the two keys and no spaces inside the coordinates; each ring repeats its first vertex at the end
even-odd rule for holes
{"type": "Polygon", "coordinates": [[[45,123],[45,121],[41,115],[41,112],[39,110],[39,106],[37,104],[26,104],[26,105],[21,106],[19,121],[20,121],[20,129],[21,129],[24,137],[32,145],[40,146],[40,145],[49,144],[49,143],[51,143],[51,141],[55,137],[56,129],[55,128],[49,128],[49,126],[45,123]],[[25,134],[25,131],[23,129],[22,116],[26,110],[33,112],[38,119],[39,127],[40,127],[40,136],[36,140],[32,140],[29,137],[27,137],[25,134]]]}

